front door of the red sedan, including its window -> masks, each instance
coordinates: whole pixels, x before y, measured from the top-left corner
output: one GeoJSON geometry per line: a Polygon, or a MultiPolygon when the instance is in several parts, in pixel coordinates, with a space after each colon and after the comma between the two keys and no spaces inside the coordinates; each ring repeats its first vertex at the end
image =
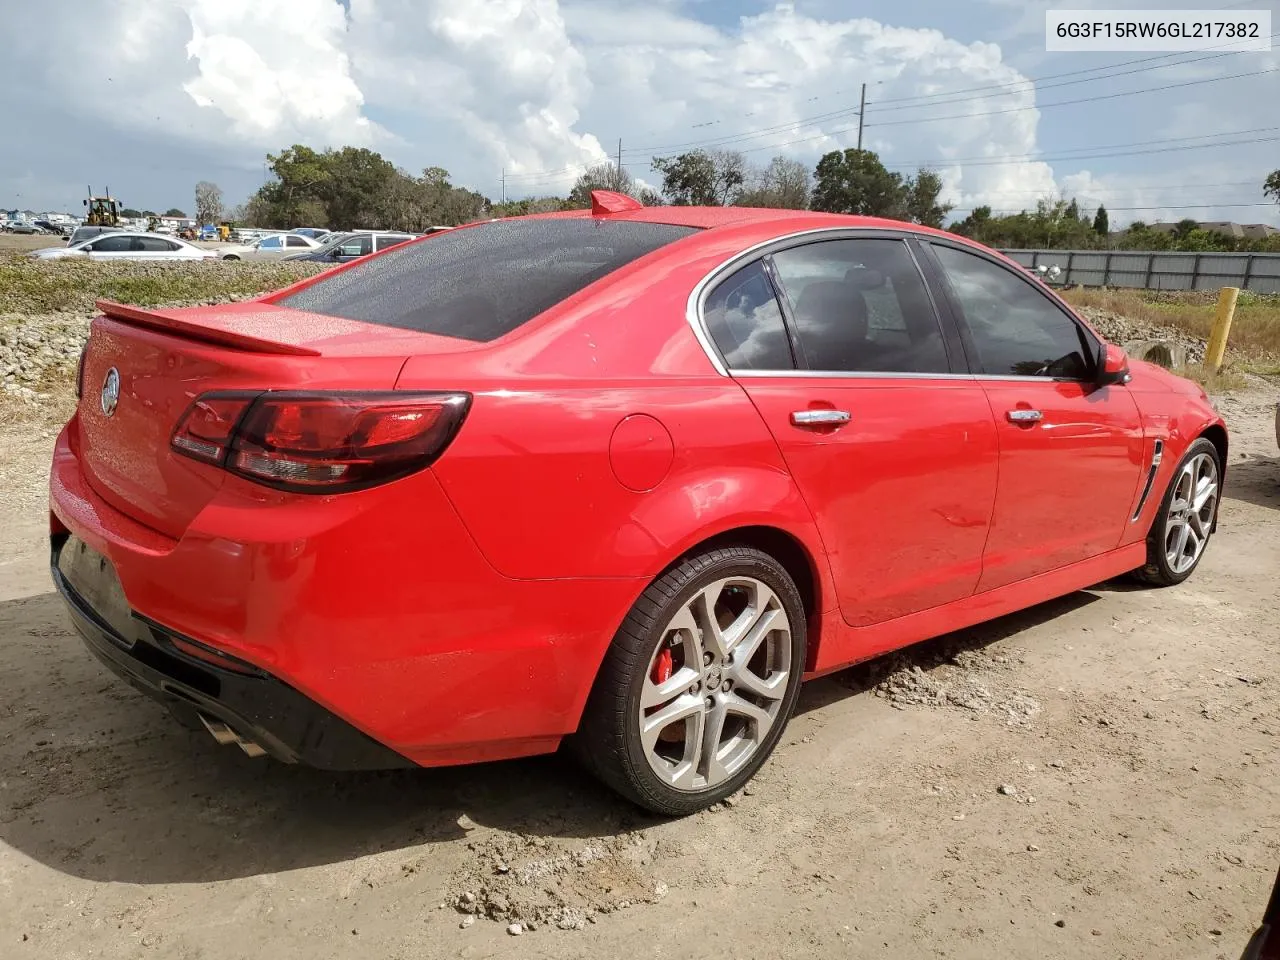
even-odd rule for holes
{"type": "Polygon", "coordinates": [[[979,590],[1115,549],[1147,466],[1133,396],[1093,385],[1096,338],[1037,280],[968,247],[929,248],[1000,435],[979,590]]]}

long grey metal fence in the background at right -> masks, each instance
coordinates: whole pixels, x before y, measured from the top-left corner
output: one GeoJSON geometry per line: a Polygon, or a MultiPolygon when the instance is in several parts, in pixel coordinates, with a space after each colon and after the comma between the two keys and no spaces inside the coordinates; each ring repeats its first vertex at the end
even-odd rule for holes
{"type": "Polygon", "coordinates": [[[1280,253],[1160,253],[1129,250],[1002,250],[1023,266],[1057,266],[1056,284],[1280,293],[1280,253]]]}

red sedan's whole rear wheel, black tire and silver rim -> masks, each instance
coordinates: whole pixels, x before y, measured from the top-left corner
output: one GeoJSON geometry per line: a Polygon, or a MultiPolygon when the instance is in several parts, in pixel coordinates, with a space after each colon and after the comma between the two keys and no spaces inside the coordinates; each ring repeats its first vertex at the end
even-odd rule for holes
{"type": "Polygon", "coordinates": [[[781,563],[751,547],[686,558],[649,585],[613,637],[577,753],[648,810],[705,809],[773,753],[804,664],[804,603],[781,563]]]}

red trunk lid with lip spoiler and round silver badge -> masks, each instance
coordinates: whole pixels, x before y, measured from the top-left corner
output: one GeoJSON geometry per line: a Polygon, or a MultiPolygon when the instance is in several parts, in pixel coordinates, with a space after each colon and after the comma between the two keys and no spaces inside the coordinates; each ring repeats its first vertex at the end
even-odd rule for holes
{"type": "Polygon", "coordinates": [[[100,301],[99,308],[81,374],[81,467],[111,507],[175,539],[227,480],[169,447],[200,394],[389,390],[408,356],[481,346],[257,301],[180,310],[100,301]]]}

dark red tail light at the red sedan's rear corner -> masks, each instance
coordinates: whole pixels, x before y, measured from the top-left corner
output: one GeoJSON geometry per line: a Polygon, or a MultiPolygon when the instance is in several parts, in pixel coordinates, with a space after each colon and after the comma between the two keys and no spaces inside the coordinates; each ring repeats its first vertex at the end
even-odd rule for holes
{"type": "Polygon", "coordinates": [[[342,493],[430,466],[470,406],[466,393],[206,393],[170,445],[268,486],[342,493]]]}

